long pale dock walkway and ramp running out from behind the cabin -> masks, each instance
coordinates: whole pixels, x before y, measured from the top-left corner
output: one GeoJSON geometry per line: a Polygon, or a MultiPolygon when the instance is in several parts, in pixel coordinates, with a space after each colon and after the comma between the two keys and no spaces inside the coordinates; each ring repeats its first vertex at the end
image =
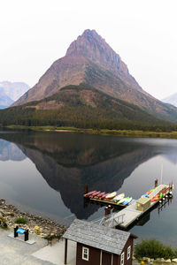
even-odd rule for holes
{"type": "MultiPolygon", "coordinates": [[[[156,204],[158,204],[159,202],[165,201],[165,198],[172,196],[172,190],[173,190],[173,183],[171,183],[169,185],[159,185],[149,195],[148,199],[149,199],[150,205],[148,208],[145,208],[142,210],[140,210],[139,208],[137,209],[137,202],[140,199],[139,200],[133,200],[133,201],[131,201],[130,204],[128,204],[128,206],[126,208],[123,208],[122,210],[120,210],[117,213],[111,214],[111,209],[108,211],[106,211],[106,209],[105,209],[105,216],[103,218],[100,218],[100,219],[94,221],[94,222],[99,223],[99,224],[103,224],[107,227],[112,227],[112,228],[119,227],[119,228],[126,230],[127,227],[129,227],[130,225],[135,223],[145,213],[150,211],[150,209],[152,209],[156,204]],[[162,193],[162,191],[165,191],[165,192],[162,193]],[[161,197],[159,196],[157,201],[150,202],[150,200],[152,198],[154,198],[154,196],[156,196],[160,193],[162,193],[163,195],[161,197]]],[[[110,203],[110,205],[111,205],[111,203],[110,203]]]]}

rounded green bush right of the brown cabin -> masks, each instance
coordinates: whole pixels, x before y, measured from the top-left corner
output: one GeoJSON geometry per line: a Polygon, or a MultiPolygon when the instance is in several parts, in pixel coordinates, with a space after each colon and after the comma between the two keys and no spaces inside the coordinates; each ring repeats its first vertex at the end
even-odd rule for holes
{"type": "Polygon", "coordinates": [[[149,257],[151,259],[164,258],[173,259],[177,250],[171,246],[164,246],[156,239],[142,240],[135,246],[135,258],[149,257]]]}

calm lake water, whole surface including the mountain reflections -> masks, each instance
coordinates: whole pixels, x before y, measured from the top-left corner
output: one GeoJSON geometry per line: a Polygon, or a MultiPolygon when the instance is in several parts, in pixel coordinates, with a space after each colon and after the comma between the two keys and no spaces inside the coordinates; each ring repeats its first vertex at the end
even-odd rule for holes
{"type": "Polygon", "coordinates": [[[173,180],[173,200],[131,229],[139,238],[177,246],[177,140],[78,133],[0,132],[0,198],[63,223],[94,220],[104,208],[84,208],[83,190],[131,195],[173,180]]]}

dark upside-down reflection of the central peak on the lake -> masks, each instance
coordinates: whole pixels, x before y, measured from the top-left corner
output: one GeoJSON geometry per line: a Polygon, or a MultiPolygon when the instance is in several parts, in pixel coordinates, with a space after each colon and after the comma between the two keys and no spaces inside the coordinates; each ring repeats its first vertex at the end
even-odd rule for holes
{"type": "Polygon", "coordinates": [[[26,155],[50,187],[61,194],[66,208],[81,219],[87,219],[98,208],[83,208],[86,184],[90,190],[119,190],[139,164],[158,155],[156,148],[144,148],[141,142],[125,144],[112,137],[105,140],[76,133],[4,133],[1,137],[5,139],[1,140],[1,147],[8,143],[11,149],[9,159],[16,159],[17,150],[26,155]]]}

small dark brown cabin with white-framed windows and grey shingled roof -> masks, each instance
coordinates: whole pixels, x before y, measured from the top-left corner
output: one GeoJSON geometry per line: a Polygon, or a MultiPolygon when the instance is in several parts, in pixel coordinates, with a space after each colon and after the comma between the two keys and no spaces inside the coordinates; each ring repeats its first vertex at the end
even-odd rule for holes
{"type": "Polygon", "coordinates": [[[69,239],[77,242],[76,265],[131,265],[133,241],[137,237],[127,231],[75,219],[64,238],[65,264],[69,239]]]}

